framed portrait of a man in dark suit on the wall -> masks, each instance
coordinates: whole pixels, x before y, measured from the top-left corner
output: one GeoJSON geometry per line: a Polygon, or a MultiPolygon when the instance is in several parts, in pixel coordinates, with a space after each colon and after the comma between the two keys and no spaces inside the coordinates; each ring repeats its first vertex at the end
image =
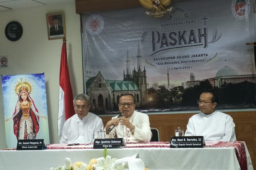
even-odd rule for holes
{"type": "Polygon", "coordinates": [[[46,14],[48,40],[66,37],[63,13],[46,14]]]}

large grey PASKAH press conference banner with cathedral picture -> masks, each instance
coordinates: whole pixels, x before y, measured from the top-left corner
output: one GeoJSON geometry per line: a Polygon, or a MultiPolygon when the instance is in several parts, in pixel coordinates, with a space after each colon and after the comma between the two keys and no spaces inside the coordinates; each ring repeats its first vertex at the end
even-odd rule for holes
{"type": "Polygon", "coordinates": [[[144,7],[83,15],[91,111],[118,112],[127,92],[143,112],[193,110],[209,88],[218,93],[217,108],[256,107],[254,56],[245,45],[255,37],[253,2],[184,0],[170,6],[162,17],[147,15],[152,12],[144,7]]]}

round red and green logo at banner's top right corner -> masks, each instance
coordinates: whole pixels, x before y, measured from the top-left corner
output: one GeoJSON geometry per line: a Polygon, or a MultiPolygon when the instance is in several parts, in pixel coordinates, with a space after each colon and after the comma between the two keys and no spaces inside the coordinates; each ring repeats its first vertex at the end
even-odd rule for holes
{"type": "Polygon", "coordinates": [[[249,0],[233,0],[232,13],[237,19],[244,19],[250,12],[249,0]]]}

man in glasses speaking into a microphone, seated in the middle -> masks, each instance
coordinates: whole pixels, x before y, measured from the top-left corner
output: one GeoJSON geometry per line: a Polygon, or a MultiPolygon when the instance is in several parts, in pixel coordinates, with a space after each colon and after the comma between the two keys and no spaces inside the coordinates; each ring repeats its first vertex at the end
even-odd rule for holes
{"type": "Polygon", "coordinates": [[[146,114],[135,111],[135,103],[132,94],[120,96],[118,107],[122,115],[115,116],[106,123],[106,138],[124,138],[125,142],[150,141],[152,133],[149,118],[146,114]]]}

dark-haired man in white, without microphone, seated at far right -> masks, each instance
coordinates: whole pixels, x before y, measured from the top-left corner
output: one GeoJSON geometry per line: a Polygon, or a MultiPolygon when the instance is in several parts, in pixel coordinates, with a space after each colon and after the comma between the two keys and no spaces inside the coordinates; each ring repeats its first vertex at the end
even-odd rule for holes
{"type": "Polygon", "coordinates": [[[218,97],[213,90],[204,91],[197,103],[201,112],[189,119],[185,136],[204,136],[205,141],[236,141],[233,119],[216,111],[218,97]]]}

